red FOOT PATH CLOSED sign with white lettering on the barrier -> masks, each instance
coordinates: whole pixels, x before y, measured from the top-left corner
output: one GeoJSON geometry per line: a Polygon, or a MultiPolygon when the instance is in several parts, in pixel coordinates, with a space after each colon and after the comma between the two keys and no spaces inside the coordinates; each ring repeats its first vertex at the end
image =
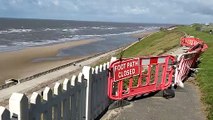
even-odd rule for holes
{"type": "Polygon", "coordinates": [[[140,74],[139,58],[125,59],[113,63],[114,80],[130,78],[140,74]]]}

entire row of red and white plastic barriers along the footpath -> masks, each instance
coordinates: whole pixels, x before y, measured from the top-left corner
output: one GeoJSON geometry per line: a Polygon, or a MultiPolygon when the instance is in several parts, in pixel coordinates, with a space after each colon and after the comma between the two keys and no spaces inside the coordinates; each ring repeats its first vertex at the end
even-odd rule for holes
{"type": "Polygon", "coordinates": [[[201,39],[194,37],[181,38],[180,44],[190,48],[177,58],[168,55],[119,59],[112,62],[108,77],[109,98],[121,100],[165,90],[173,85],[184,87],[183,81],[189,72],[194,70],[200,54],[208,46],[201,39]]]}

